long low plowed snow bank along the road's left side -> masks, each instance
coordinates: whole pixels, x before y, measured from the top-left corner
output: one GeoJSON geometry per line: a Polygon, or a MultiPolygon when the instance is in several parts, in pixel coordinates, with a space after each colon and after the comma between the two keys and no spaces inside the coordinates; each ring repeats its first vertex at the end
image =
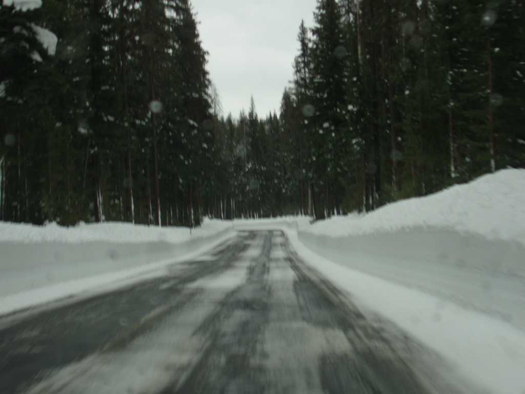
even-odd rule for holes
{"type": "Polygon", "coordinates": [[[233,236],[232,224],[148,227],[129,223],[60,227],[0,222],[0,315],[143,278],[233,236]]]}

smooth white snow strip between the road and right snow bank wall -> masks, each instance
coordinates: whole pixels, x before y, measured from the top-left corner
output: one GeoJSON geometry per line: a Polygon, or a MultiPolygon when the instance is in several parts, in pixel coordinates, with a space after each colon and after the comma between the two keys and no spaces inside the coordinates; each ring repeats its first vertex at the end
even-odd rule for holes
{"type": "Polygon", "coordinates": [[[461,375],[493,393],[525,392],[525,333],[510,324],[442,299],[333,263],[310,251],[297,233],[292,246],[352,299],[453,362],[461,375]]]}

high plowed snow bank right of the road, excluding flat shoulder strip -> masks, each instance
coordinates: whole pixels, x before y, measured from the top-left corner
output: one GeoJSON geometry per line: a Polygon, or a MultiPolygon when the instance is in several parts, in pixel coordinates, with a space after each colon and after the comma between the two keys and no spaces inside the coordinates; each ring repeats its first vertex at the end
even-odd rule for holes
{"type": "Polygon", "coordinates": [[[502,170],[366,215],[299,226],[328,260],[525,332],[525,170],[502,170]]]}

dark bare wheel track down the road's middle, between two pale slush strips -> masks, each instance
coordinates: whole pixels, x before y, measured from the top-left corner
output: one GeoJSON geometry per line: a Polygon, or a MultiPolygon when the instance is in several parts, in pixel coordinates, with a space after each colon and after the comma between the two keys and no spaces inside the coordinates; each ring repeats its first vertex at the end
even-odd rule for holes
{"type": "Polygon", "coordinates": [[[211,344],[195,369],[184,382],[173,382],[161,394],[265,392],[263,370],[250,360],[267,322],[271,242],[268,232],[260,255],[249,264],[246,283],[228,294],[196,330],[210,337],[211,344]]]}

